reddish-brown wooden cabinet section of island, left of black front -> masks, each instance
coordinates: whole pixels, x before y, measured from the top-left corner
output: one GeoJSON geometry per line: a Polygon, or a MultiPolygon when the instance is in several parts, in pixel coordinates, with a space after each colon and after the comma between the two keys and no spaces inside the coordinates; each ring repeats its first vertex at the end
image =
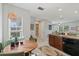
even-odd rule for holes
{"type": "Polygon", "coordinates": [[[62,37],[56,35],[49,35],[49,45],[63,51],[62,37]]]}

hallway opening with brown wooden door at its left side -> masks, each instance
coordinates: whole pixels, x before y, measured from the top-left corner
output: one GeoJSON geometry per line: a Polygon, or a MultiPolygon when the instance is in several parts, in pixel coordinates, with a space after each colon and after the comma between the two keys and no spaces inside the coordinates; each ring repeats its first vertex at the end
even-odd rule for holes
{"type": "Polygon", "coordinates": [[[42,41],[45,38],[45,22],[36,21],[35,22],[35,37],[42,41]]]}

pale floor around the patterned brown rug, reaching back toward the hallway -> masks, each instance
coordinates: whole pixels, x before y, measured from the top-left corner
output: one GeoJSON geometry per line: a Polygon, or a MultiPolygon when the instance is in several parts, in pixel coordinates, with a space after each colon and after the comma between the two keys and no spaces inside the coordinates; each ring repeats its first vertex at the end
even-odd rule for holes
{"type": "MultiPolygon", "coordinates": [[[[43,53],[39,48],[40,48],[40,47],[43,47],[43,46],[48,46],[48,47],[50,47],[50,48],[52,49],[52,51],[57,51],[57,52],[60,54],[60,56],[61,56],[61,55],[67,56],[67,54],[65,54],[65,53],[63,53],[63,52],[61,52],[61,51],[59,51],[58,49],[55,49],[54,47],[49,46],[48,40],[38,40],[37,43],[38,43],[38,47],[37,47],[35,50],[32,51],[32,53],[34,53],[33,55],[47,56],[47,55],[46,55],[45,53],[43,53]]],[[[53,55],[52,55],[52,56],[53,56],[53,55]]]]}

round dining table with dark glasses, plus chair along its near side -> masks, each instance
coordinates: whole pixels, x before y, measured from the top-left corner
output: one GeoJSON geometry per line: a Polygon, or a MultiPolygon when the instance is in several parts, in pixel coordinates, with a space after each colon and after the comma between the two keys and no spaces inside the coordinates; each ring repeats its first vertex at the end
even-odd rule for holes
{"type": "MultiPolygon", "coordinates": [[[[1,45],[1,44],[0,44],[1,45]]],[[[0,46],[0,56],[31,56],[31,52],[37,48],[37,43],[31,40],[11,42],[4,48],[0,46]]]]}

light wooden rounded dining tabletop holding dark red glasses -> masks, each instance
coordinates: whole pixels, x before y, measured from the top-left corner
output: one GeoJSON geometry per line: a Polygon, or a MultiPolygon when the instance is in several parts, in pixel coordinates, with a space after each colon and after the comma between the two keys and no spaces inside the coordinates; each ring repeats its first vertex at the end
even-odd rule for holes
{"type": "Polygon", "coordinates": [[[19,41],[19,45],[17,47],[14,47],[13,49],[11,49],[11,44],[6,46],[3,49],[3,53],[16,53],[16,52],[27,53],[29,51],[32,51],[35,48],[37,48],[36,42],[30,41],[30,40],[21,40],[19,41]],[[20,42],[23,42],[23,44],[20,44],[20,42]]]}

